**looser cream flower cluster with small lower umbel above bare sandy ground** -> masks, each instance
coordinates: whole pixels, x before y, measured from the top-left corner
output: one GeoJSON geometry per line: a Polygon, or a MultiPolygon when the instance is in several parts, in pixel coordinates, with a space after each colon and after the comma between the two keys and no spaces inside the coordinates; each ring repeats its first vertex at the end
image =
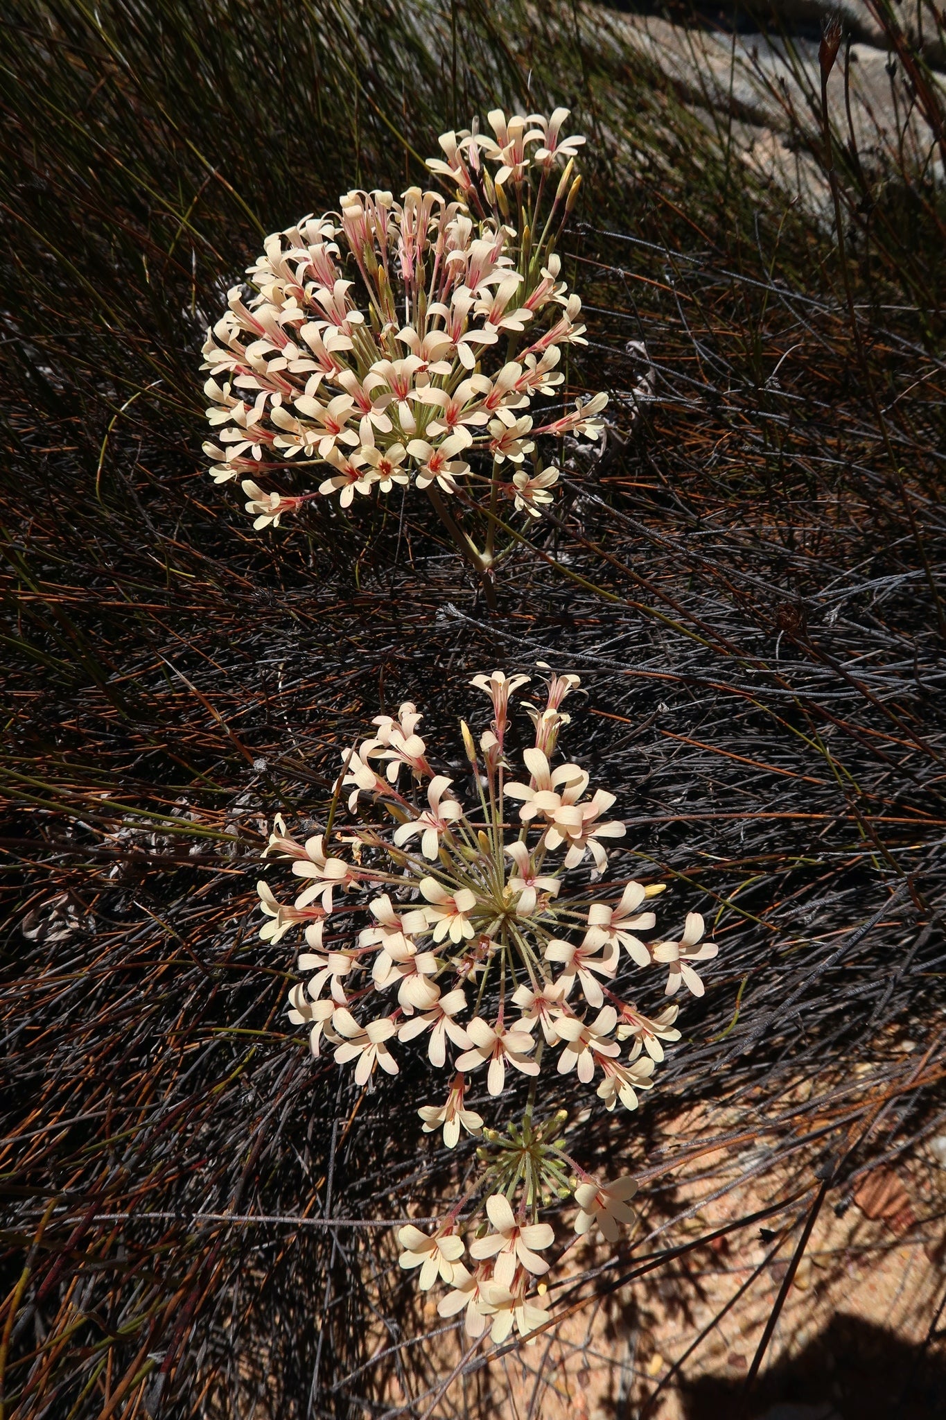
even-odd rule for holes
{"type": "Polygon", "coordinates": [[[651,1018],[618,995],[621,956],[641,970],[664,966],[667,995],[681,987],[702,995],[695,963],[718,950],[702,941],[699,913],[679,937],[644,941],[655,924],[647,903],[664,883],[606,876],[604,845],[625,832],[607,816],[614,795],[589,795],[577,764],[553,767],[577,676],[552,674],[545,706],[525,704],[535,741],[523,771],[511,770],[509,703],[528,679],[494,670],[472,682],[494,717],[478,746],[461,721],[469,804],[431,765],[407,701],[397,719],[376,716],[373,736],[345,751],[322,832],[299,842],[277,819],[265,856],[291,862],[295,902],[258,885],[264,940],[305,933],[306,980],[289,993],[289,1020],[308,1027],[312,1054],[328,1045],[370,1088],[379,1069],[396,1075],[399,1054],[423,1044],[435,1075],[445,1072],[440,1102],[420,1110],[424,1130],[440,1130],[450,1149],[461,1133],[482,1137],[475,1183],[433,1233],[401,1228],[400,1261],[420,1268],[423,1289],[447,1285],[443,1316],[465,1311],[467,1332],[489,1326],[494,1342],[549,1319],[540,1254],[555,1233],[542,1210],[573,1196],[574,1231],[610,1242],[633,1220],[634,1180],[594,1180],[566,1152],[564,1115],[540,1118],[542,1068],[574,1071],[608,1110],[637,1109],[664,1042],[679,1039],[678,1007],[651,1018]],[[529,1081],[525,1112],[503,1133],[485,1127],[471,1091],[485,1083],[485,1099],[499,1100],[519,1075],[529,1081]]]}

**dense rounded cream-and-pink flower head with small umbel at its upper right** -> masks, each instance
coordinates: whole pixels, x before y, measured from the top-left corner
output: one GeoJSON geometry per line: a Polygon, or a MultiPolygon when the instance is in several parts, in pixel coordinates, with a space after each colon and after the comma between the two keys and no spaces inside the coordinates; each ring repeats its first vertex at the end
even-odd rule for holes
{"type": "Polygon", "coordinates": [[[450,199],[349,192],[267,237],[203,348],[204,452],[216,481],[241,480],[254,528],[413,483],[492,599],[516,541],[505,504],[528,518],[553,501],[540,443],[599,437],[607,403],[550,408],[563,346],[587,344],[555,250],[581,180],[566,118],[495,109],[492,138],[441,135],[427,166],[450,199]]]}

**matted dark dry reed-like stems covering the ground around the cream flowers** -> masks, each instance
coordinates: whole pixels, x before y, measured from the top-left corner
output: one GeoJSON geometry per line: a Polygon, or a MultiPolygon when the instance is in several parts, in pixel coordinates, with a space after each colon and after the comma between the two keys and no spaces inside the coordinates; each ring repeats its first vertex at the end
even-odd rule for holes
{"type": "MultiPolygon", "coordinates": [[[[589,692],[581,760],[625,826],[616,876],[667,882],[665,910],[698,910],[720,949],[630,1126],[552,1078],[584,1167],[633,1176],[662,1230],[549,1289],[573,1308],[560,1335],[617,1299],[617,1410],[645,1288],[671,1308],[720,1228],[730,1248],[766,1228],[786,1272],[749,1343],[725,1333],[723,1355],[711,1332],[682,1359],[722,1291],[641,1342],[644,1372],[657,1353],[684,1377],[702,1345],[742,1355],[723,1379],[745,1387],[813,1218],[760,1358],[770,1396],[834,1220],[852,1230],[841,1278],[855,1224],[906,1278],[874,1316],[902,1326],[903,1390],[942,1348],[942,175],[896,142],[859,162],[842,106],[827,143],[798,125],[835,173],[842,263],[834,212],[740,166],[726,124],[613,44],[599,7],[311,13],[289,31],[281,7],[24,0],[4,30],[4,1420],[495,1413],[553,1345],[455,1372],[443,1328],[461,1323],[413,1314],[393,1230],[427,1227],[477,1140],[424,1135],[423,1061],[374,1092],[312,1062],[254,888],[274,814],[325,821],[379,707],[423,703],[445,744],[457,680],[536,660],[589,692]],[[194,369],[268,231],[330,206],[339,173],[390,182],[393,142],[400,190],[423,182],[444,114],[501,98],[572,101],[594,138],[594,199],[559,244],[593,334],[560,389],[607,389],[613,429],[563,440],[562,498],[529,520],[492,615],[420,498],[357,520],[313,500],[267,538],[228,520],[199,469],[194,369]],[[684,1186],[688,1119],[694,1152],[718,1152],[684,1186]],[[864,1217],[878,1169],[919,1233],[864,1217]]],[[[614,990],[635,985],[625,958],[614,990]]],[[[661,1000],[655,983],[640,1007],[661,1000]]]]}

